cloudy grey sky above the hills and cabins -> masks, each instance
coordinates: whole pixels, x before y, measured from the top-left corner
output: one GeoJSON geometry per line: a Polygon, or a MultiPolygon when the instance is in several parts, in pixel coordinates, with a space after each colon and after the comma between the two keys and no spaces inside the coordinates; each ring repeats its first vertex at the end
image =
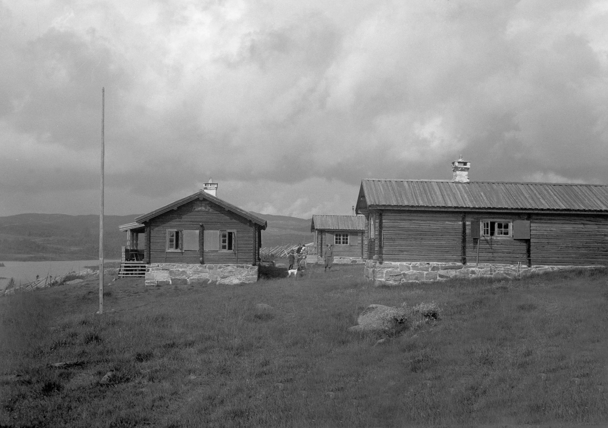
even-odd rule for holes
{"type": "Polygon", "coordinates": [[[198,191],[350,214],[362,178],[608,183],[608,1],[0,0],[0,216],[198,191]]]}

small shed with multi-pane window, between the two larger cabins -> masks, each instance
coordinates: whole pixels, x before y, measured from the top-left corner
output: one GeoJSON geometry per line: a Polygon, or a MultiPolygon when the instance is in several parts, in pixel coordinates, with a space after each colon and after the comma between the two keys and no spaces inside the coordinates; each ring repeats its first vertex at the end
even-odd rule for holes
{"type": "Polygon", "coordinates": [[[364,229],[364,216],[314,215],[310,226],[320,259],[328,244],[334,246],[334,259],[363,259],[364,229]]]}

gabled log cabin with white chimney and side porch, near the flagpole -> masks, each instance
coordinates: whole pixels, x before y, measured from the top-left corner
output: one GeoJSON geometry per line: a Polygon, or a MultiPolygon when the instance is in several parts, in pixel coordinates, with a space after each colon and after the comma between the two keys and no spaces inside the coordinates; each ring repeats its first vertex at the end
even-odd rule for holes
{"type": "Polygon", "coordinates": [[[192,278],[218,280],[217,272],[210,271],[235,265],[257,267],[266,220],[216,197],[217,187],[210,180],[204,189],[120,226],[129,236],[125,257],[134,254],[135,260],[148,266],[148,273],[155,269],[179,271],[183,267],[179,275],[188,283],[192,278]],[[137,248],[139,233],[143,233],[143,249],[137,248]],[[197,273],[194,276],[184,273],[193,270],[197,273]]]}

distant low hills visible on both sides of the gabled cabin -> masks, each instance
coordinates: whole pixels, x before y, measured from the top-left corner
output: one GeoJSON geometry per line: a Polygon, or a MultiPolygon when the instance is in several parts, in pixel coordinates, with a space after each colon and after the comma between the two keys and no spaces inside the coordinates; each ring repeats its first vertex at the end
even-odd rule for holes
{"type": "MultiPolygon", "coordinates": [[[[262,245],[275,246],[313,241],[311,220],[258,214],[268,222],[262,245]]],[[[131,223],[140,214],[103,217],[103,253],[120,259],[126,233],[119,226],[131,223]]],[[[86,260],[99,257],[99,216],[67,214],[18,214],[0,217],[0,262],[3,260],[86,260]]]]}

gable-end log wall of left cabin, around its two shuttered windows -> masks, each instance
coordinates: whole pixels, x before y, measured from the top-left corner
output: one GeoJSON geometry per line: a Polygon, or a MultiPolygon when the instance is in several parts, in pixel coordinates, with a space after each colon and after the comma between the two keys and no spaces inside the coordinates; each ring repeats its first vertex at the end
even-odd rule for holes
{"type": "Polygon", "coordinates": [[[204,228],[207,231],[236,231],[237,248],[236,251],[202,251],[203,263],[252,264],[255,232],[252,231],[253,225],[249,225],[249,220],[211,202],[207,211],[195,209],[197,204],[198,201],[187,203],[150,220],[149,242],[147,242],[150,253],[148,263],[200,263],[200,246],[199,251],[167,251],[167,230],[198,230],[200,237],[204,228]],[[203,228],[200,226],[201,223],[203,228]]]}

